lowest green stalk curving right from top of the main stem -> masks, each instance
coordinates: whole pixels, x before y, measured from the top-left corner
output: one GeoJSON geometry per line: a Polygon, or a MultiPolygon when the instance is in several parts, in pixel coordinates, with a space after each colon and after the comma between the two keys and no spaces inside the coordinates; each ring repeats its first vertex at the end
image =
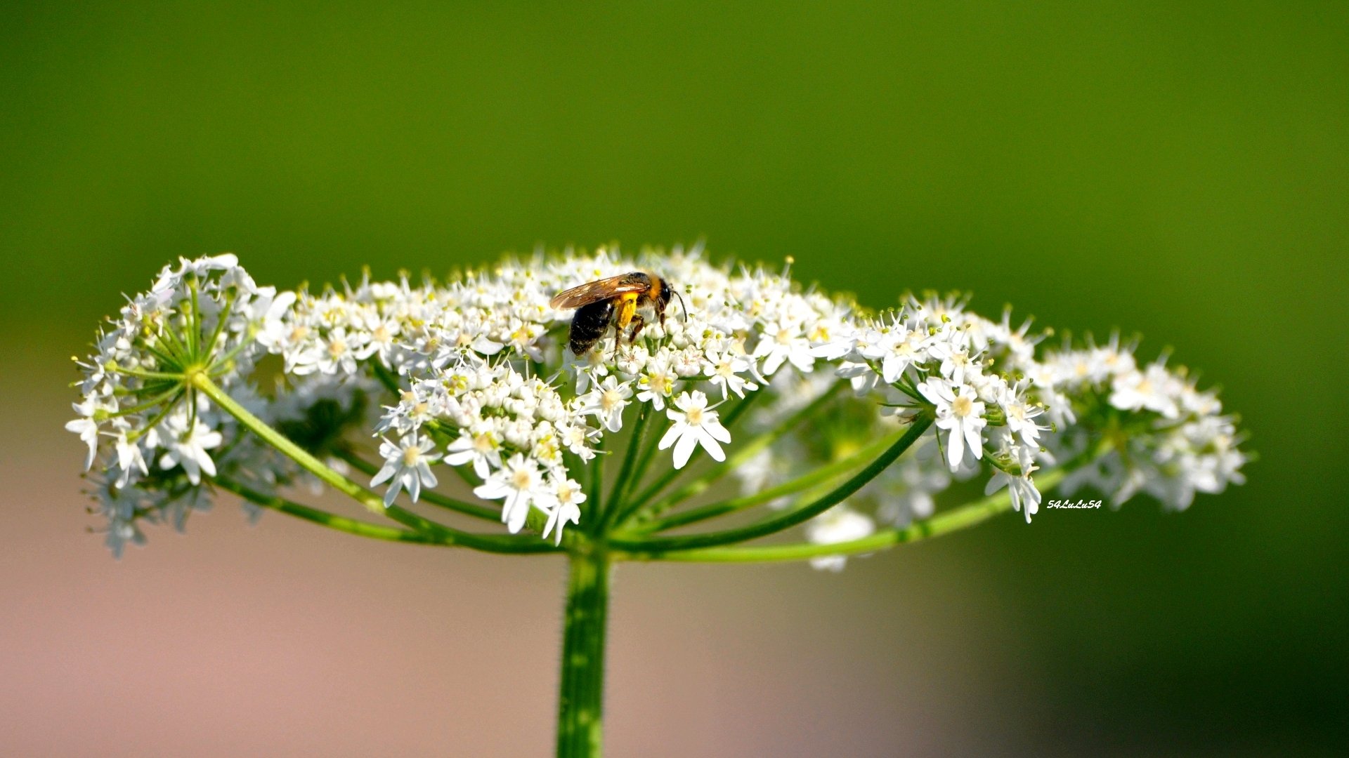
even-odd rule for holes
{"type": "MultiPolygon", "coordinates": [[[[1055,469],[1035,477],[1041,492],[1048,492],[1067,472],[1055,469]]],[[[859,553],[874,553],[905,542],[917,542],[929,537],[940,537],[951,531],[959,531],[985,522],[994,515],[1012,510],[1012,496],[1006,490],[1001,490],[987,498],[970,504],[952,508],[932,518],[913,522],[904,527],[884,529],[861,540],[835,542],[832,545],[765,545],[751,548],[704,548],[695,550],[674,550],[668,553],[625,553],[626,560],[638,561],[689,561],[689,562],[781,562],[807,561],[824,556],[855,556],[859,553]]]]}

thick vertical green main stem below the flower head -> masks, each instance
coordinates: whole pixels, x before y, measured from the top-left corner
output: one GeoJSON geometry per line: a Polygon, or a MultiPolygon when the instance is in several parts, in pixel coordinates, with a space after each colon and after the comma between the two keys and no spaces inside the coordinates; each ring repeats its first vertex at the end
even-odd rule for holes
{"type": "Polygon", "coordinates": [[[572,554],[557,699],[558,758],[598,758],[600,754],[610,571],[610,557],[603,548],[572,554]]]}

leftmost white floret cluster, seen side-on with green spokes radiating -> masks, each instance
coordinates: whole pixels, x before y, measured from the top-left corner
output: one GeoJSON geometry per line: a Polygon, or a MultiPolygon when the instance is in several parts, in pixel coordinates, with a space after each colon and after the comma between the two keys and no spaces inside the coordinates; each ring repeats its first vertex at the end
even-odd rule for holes
{"type": "Polygon", "coordinates": [[[282,465],[260,445],[237,441],[233,419],[185,394],[173,375],[209,372],[260,410],[264,403],[239,378],[262,352],[254,333],[274,325],[294,297],[259,287],[233,255],[181,259],[108,320],[94,353],[78,363],[82,398],[66,429],[88,445],[85,468],[104,452],[94,510],[108,518],[115,553],[143,541],[139,521],[181,527],[189,511],[208,507],[198,487],[223,465],[250,472],[282,465]]]}

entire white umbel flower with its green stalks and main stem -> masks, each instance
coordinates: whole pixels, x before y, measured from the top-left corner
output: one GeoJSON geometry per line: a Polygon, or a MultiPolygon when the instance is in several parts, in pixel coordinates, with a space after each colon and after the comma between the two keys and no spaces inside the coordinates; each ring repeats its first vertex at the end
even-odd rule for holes
{"type": "Polygon", "coordinates": [[[223,255],[128,298],[78,361],[67,429],[119,556],[219,491],[372,540],[565,556],[557,755],[592,757],[619,562],[839,569],[1008,510],[1029,522],[1051,488],[1180,510],[1242,482],[1236,419],[1184,370],[1140,366],[1117,337],[1041,337],[958,297],[871,314],[700,250],[317,294],[259,286],[223,255]],[[550,302],[596,276],[637,289],[575,355],[550,302]],[[688,308],[661,318],[676,298],[654,281],[688,308]],[[983,496],[951,502],[969,477],[983,496]],[[295,502],[297,484],[362,515],[295,502]]]}

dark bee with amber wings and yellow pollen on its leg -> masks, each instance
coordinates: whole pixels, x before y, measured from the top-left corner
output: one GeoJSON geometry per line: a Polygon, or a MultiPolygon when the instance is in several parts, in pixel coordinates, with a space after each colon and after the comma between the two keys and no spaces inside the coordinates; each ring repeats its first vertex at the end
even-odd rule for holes
{"type": "Polygon", "coordinates": [[[627,334],[627,344],[631,345],[646,325],[646,318],[638,309],[652,309],[660,325],[665,326],[665,306],[669,305],[670,297],[679,298],[687,320],[684,297],[668,281],[646,271],[631,271],[557,293],[548,305],[556,309],[576,309],[567,337],[573,353],[581,355],[591,349],[604,337],[604,332],[614,326],[614,355],[618,355],[623,330],[631,326],[627,334]]]}

